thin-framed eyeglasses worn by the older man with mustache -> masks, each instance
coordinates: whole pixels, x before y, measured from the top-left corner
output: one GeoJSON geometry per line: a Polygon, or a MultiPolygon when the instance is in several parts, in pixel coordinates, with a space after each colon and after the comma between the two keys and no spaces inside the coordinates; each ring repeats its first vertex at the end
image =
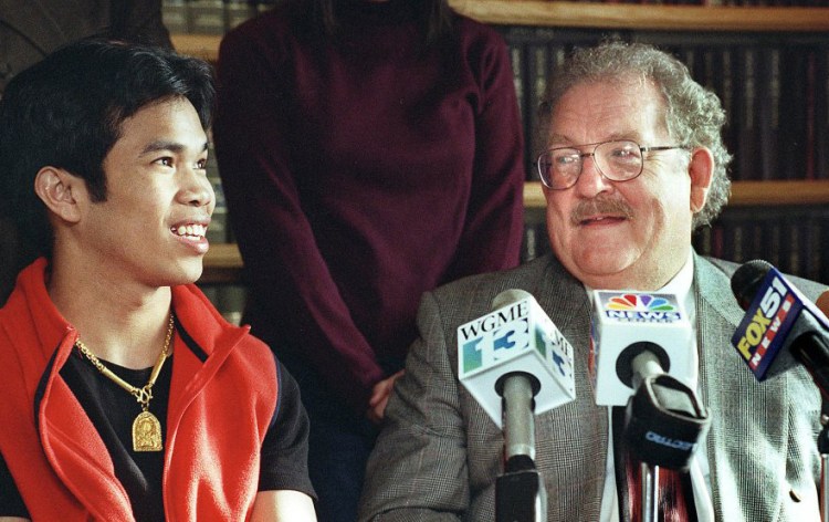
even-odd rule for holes
{"type": "Polygon", "coordinates": [[[591,153],[583,153],[576,147],[557,147],[542,153],[536,159],[542,182],[553,190],[564,190],[576,185],[581,175],[585,158],[592,156],[596,168],[611,181],[630,181],[644,168],[644,153],[686,148],[682,145],[641,147],[630,139],[616,139],[596,144],[591,153]]]}

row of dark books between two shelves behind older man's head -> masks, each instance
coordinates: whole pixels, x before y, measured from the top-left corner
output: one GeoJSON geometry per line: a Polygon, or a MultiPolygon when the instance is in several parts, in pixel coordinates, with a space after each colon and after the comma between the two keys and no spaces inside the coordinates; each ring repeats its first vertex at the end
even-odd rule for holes
{"type": "Polygon", "coordinates": [[[819,34],[601,32],[505,27],[527,136],[527,179],[544,147],[537,107],[575,46],[606,38],[672,52],[715,92],[727,115],[724,139],[735,180],[829,179],[829,40],[819,34]]]}

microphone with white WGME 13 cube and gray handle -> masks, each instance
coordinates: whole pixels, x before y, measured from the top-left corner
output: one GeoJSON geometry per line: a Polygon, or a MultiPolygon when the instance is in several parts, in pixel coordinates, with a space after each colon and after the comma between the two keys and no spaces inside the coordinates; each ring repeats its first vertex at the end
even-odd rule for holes
{"type": "Polygon", "coordinates": [[[500,293],[492,307],[458,327],[458,375],[495,425],[503,425],[495,521],[541,522],[547,497],[535,468],[533,416],[576,398],[573,346],[523,290],[500,293]]]}

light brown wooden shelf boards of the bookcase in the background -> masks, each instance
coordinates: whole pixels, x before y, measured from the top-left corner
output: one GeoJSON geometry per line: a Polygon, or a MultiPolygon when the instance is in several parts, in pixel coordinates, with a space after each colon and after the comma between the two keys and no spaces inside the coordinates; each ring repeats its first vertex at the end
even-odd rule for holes
{"type": "MultiPolygon", "coordinates": [[[[585,28],[595,30],[741,32],[746,34],[817,34],[829,38],[829,8],[663,6],[544,0],[450,0],[459,12],[494,25],[585,28]],[[821,35],[822,34],[822,35],[821,35]]],[[[179,52],[216,62],[221,35],[172,34],[179,52]]],[[[543,216],[541,184],[527,181],[524,202],[529,215],[543,216]]],[[[731,209],[798,207],[829,203],[829,180],[734,181],[731,209]]],[[[238,282],[242,261],[235,244],[214,243],[204,259],[201,281],[238,282]]]]}

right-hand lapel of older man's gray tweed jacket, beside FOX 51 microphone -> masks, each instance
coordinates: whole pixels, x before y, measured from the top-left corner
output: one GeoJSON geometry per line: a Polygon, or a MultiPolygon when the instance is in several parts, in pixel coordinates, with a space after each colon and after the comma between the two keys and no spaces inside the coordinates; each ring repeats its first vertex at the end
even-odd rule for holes
{"type": "Polygon", "coordinates": [[[768,513],[779,512],[780,488],[765,489],[760,499],[756,491],[778,483],[786,469],[788,377],[755,380],[731,345],[744,312],[728,276],[700,257],[694,265],[700,386],[712,415],[706,450],[716,519],[768,520],[768,513]]]}

